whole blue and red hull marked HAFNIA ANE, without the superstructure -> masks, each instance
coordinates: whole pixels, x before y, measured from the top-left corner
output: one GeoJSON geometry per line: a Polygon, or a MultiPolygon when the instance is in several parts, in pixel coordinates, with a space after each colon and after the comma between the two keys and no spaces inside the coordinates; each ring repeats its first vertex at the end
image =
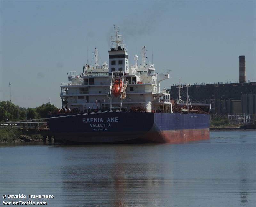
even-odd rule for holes
{"type": "Polygon", "coordinates": [[[209,114],[96,112],[47,120],[55,139],[75,143],[180,143],[209,139],[209,114]]]}

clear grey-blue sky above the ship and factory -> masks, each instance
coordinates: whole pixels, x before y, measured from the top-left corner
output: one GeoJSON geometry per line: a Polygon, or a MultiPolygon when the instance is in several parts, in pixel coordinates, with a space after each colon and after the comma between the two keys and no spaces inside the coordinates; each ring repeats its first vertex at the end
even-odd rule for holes
{"type": "Polygon", "coordinates": [[[61,107],[67,72],[108,63],[110,37],[119,27],[134,64],[170,69],[169,89],[181,83],[256,81],[256,1],[4,1],[0,0],[0,100],[20,107],[61,107]],[[87,52],[88,51],[88,52],[87,52]],[[87,58],[88,57],[88,58],[87,58]]]}

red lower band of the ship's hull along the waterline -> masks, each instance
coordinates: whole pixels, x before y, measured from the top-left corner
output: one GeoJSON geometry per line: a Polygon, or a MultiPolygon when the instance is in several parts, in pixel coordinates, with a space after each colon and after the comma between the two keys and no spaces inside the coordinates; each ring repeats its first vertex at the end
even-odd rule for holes
{"type": "Polygon", "coordinates": [[[184,129],[184,130],[166,130],[166,131],[148,131],[148,132],[125,132],[122,136],[116,133],[59,133],[55,134],[57,140],[64,143],[186,143],[191,141],[210,139],[208,129],[184,129]]]}

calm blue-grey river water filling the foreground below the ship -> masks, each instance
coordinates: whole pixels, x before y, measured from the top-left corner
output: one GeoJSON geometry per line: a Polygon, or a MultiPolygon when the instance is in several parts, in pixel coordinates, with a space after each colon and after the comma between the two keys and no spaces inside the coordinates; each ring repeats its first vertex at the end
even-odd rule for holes
{"type": "Polygon", "coordinates": [[[2,145],[1,205],[255,207],[256,131],[211,131],[210,137],[173,145],[2,145]]]}

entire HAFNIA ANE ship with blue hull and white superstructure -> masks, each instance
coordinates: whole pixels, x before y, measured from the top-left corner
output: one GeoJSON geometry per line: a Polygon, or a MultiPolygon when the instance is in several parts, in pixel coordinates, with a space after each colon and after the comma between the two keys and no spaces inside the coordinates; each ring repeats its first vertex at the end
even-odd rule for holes
{"type": "MultiPolygon", "coordinates": [[[[111,39],[108,65],[86,64],[83,72],[68,73],[69,83],[61,84],[62,108],[47,119],[55,140],[64,143],[181,143],[209,139],[210,105],[171,100],[160,83],[170,71],[156,73],[146,64],[145,47],[135,64],[129,64],[119,29],[111,39]]],[[[179,86],[180,87],[180,86],[179,86]]],[[[189,85],[186,85],[187,91],[189,85]]],[[[180,99],[180,98],[179,98],[180,99]]]]}

